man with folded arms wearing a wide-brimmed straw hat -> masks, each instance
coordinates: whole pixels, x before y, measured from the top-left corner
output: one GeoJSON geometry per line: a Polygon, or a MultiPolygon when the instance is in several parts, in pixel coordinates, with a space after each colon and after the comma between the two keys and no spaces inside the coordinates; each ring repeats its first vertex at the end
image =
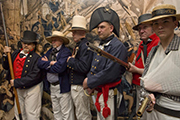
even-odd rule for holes
{"type": "Polygon", "coordinates": [[[53,31],[46,38],[52,43],[47,53],[38,62],[38,67],[46,72],[50,84],[54,120],[74,120],[74,108],[70,93],[66,60],[71,52],[65,47],[69,43],[63,33],[53,31]]]}

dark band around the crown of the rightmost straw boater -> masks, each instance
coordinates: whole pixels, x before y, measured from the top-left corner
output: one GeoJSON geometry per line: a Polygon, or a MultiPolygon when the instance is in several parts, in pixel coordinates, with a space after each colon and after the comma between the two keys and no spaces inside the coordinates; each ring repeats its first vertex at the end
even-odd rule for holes
{"type": "Polygon", "coordinates": [[[174,9],[160,9],[152,12],[152,17],[160,16],[160,15],[174,15],[176,14],[176,10],[174,9]]]}

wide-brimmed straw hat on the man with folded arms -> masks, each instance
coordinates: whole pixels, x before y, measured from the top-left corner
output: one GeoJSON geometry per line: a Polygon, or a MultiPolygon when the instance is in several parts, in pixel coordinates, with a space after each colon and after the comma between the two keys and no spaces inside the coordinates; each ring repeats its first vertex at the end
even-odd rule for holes
{"type": "Polygon", "coordinates": [[[61,40],[63,40],[64,45],[67,45],[69,43],[69,39],[66,38],[64,36],[64,34],[62,32],[59,32],[59,31],[53,31],[52,32],[52,36],[46,37],[46,40],[51,43],[52,42],[52,38],[54,38],[54,37],[58,37],[61,40]]]}

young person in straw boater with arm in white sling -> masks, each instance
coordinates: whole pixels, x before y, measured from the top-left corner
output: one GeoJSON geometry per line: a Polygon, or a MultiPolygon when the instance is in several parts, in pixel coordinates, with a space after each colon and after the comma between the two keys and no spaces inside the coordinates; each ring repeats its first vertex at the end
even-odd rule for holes
{"type": "Polygon", "coordinates": [[[160,44],[152,48],[142,75],[142,96],[150,96],[147,111],[154,109],[157,120],[180,119],[180,37],[174,34],[180,14],[173,5],[156,6],[152,18],[145,21],[153,24],[160,44]],[[146,92],[148,91],[148,92],[146,92]]]}

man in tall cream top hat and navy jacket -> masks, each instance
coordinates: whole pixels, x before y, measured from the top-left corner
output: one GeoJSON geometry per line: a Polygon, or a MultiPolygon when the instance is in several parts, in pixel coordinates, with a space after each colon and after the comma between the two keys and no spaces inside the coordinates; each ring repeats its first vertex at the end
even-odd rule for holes
{"type": "Polygon", "coordinates": [[[85,35],[88,30],[85,17],[80,15],[74,16],[70,31],[76,43],[72,56],[69,56],[67,60],[75,114],[78,120],[91,120],[90,97],[84,94],[82,87],[83,80],[86,78],[92,61],[92,52],[88,51],[86,46],[87,39],[85,35]]]}

